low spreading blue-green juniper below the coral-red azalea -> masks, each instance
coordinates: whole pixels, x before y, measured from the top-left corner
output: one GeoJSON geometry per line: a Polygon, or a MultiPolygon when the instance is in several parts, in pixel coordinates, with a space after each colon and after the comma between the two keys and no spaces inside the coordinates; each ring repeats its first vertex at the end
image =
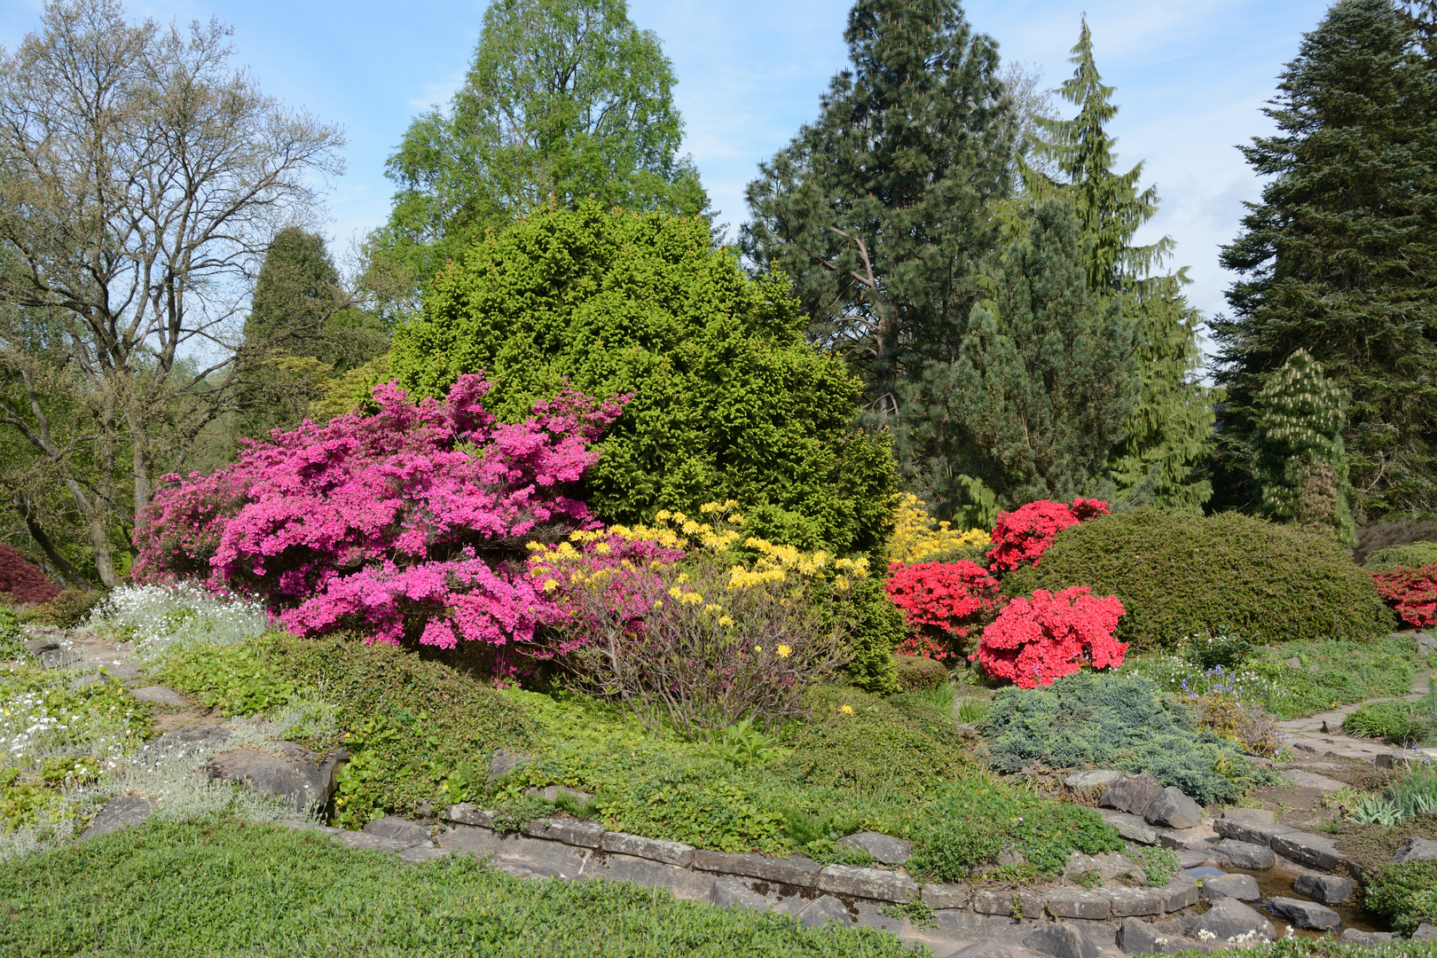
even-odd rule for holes
{"type": "Polygon", "coordinates": [[[1078,672],[1046,688],[1004,688],[984,724],[990,764],[1019,771],[1095,766],[1147,771],[1201,804],[1234,801],[1272,773],[1200,731],[1193,714],[1142,678],[1078,672]]]}

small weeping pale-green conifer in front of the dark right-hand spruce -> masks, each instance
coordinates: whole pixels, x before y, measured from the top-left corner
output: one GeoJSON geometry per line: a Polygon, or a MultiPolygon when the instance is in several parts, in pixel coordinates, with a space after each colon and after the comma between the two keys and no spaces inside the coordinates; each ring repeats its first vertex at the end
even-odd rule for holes
{"type": "Polygon", "coordinates": [[[1299,349],[1267,378],[1255,401],[1253,480],[1260,510],[1357,544],[1342,448],[1342,389],[1299,349]]]}

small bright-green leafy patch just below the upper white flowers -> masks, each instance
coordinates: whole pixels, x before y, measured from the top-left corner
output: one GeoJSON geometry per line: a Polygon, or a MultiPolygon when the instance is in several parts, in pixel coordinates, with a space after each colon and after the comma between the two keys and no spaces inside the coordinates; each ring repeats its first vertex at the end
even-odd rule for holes
{"type": "Polygon", "coordinates": [[[155,678],[224,715],[267,712],[296,692],[295,682],[282,678],[249,645],[182,645],[165,655],[155,678]]]}

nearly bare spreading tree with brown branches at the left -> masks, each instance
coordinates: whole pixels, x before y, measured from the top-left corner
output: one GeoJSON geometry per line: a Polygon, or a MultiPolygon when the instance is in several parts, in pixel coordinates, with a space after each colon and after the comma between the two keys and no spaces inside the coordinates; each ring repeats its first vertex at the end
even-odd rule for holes
{"type": "Polygon", "coordinates": [[[52,0],[42,24],[0,49],[0,363],[19,386],[0,422],[53,464],[109,586],[112,527],[243,388],[228,372],[253,271],[279,227],[313,217],[343,139],[231,68],[218,22],[52,0]],[[79,392],[68,441],[34,385],[36,322],[79,392]]]}

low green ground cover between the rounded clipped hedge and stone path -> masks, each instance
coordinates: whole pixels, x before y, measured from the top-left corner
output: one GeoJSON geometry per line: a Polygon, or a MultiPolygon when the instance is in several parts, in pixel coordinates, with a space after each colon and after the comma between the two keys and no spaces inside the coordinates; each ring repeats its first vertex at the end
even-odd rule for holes
{"type": "Polygon", "coordinates": [[[1405,695],[1423,659],[1407,636],[1368,641],[1306,639],[1257,646],[1236,665],[1203,668],[1181,655],[1129,656],[1125,675],[1152,681],[1181,697],[1229,694],[1288,720],[1361,702],[1405,695]],[[1296,659],[1293,666],[1289,659],[1296,659]]]}

